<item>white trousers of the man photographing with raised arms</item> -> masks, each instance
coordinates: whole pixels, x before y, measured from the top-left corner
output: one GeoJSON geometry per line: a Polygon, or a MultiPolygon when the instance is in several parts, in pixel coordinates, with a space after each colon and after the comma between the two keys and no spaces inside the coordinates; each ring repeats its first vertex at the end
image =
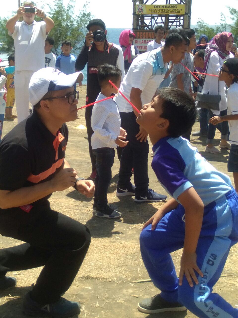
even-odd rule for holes
{"type": "Polygon", "coordinates": [[[15,72],[15,98],[17,108],[17,122],[23,121],[29,115],[29,83],[35,71],[15,72]]]}

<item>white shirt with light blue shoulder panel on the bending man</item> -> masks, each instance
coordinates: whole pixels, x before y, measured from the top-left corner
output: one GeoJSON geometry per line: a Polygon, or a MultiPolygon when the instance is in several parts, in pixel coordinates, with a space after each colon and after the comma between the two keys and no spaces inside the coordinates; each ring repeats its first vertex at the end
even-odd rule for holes
{"type": "MultiPolygon", "coordinates": [[[[160,47],[156,50],[138,55],[129,68],[123,79],[120,91],[129,99],[132,87],[139,88],[141,93],[142,106],[151,102],[157,87],[164,79],[168,69],[168,63],[163,62],[160,47]]],[[[120,112],[129,113],[133,111],[132,106],[119,93],[114,100],[120,112]]]]}

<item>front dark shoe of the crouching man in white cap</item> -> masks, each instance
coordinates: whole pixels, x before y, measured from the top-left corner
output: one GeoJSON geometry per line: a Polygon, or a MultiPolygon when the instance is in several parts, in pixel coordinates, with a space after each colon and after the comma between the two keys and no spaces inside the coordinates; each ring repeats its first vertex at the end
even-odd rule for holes
{"type": "Polygon", "coordinates": [[[49,317],[67,318],[80,313],[80,303],[69,301],[63,297],[52,304],[40,305],[30,298],[30,292],[23,301],[23,313],[26,315],[46,315],[49,317]]]}

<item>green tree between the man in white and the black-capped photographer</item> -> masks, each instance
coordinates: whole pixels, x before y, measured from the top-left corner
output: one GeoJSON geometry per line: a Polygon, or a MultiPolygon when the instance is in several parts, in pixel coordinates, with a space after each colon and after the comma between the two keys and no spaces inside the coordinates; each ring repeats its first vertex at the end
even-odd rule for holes
{"type": "Polygon", "coordinates": [[[69,39],[72,44],[72,52],[78,52],[85,37],[86,25],[92,19],[91,13],[87,10],[87,2],[82,10],[77,12],[74,11],[75,3],[76,0],[70,0],[65,8],[63,0],[55,0],[49,12],[49,17],[55,22],[49,36],[55,41],[52,52],[56,55],[61,54],[61,43],[66,39],[69,39]]]}

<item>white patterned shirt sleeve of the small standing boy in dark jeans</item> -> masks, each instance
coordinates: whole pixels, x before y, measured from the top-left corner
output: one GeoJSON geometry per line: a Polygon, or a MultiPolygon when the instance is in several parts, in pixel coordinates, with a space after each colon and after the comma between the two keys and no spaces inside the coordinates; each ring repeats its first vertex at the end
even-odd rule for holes
{"type": "Polygon", "coordinates": [[[114,148],[117,135],[103,128],[105,121],[109,115],[109,110],[102,103],[98,103],[93,107],[91,126],[95,137],[99,138],[109,148],[114,148]]]}

